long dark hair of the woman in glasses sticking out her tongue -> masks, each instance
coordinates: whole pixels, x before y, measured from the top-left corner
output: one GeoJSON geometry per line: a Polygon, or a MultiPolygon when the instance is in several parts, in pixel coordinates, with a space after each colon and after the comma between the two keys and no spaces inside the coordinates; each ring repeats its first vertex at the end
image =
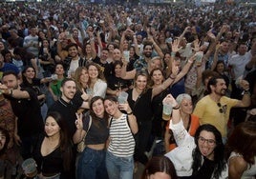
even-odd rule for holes
{"type": "Polygon", "coordinates": [[[216,141],[216,147],[214,149],[214,164],[215,164],[215,169],[213,171],[213,176],[214,178],[219,178],[221,176],[222,171],[225,169],[225,160],[224,160],[224,143],[223,143],[223,138],[221,132],[216,129],[214,126],[206,124],[202,125],[197,129],[195,133],[195,143],[197,145],[196,149],[193,150],[193,164],[192,164],[192,169],[193,169],[193,174],[197,173],[198,170],[202,167],[203,163],[203,157],[202,153],[199,149],[199,136],[200,133],[203,131],[209,131],[212,132],[215,136],[215,141],[216,141]]]}

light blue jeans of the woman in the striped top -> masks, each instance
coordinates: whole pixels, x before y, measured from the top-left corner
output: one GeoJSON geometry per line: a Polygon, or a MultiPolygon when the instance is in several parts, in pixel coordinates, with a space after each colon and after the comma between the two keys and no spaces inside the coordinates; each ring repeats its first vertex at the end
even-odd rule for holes
{"type": "Polygon", "coordinates": [[[110,179],[133,179],[134,156],[117,157],[107,151],[106,168],[110,179]]]}

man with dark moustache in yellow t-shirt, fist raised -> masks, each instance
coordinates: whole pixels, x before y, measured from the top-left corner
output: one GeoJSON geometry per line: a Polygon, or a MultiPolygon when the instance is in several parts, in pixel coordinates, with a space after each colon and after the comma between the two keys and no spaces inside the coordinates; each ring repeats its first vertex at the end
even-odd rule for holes
{"type": "Polygon", "coordinates": [[[215,126],[226,140],[226,127],[229,120],[229,111],[231,108],[245,108],[250,105],[249,83],[241,81],[241,88],[244,89],[242,100],[232,99],[224,96],[226,85],[221,76],[212,77],[207,85],[210,92],[204,96],[196,105],[193,114],[199,116],[200,124],[211,124],[215,126]]]}

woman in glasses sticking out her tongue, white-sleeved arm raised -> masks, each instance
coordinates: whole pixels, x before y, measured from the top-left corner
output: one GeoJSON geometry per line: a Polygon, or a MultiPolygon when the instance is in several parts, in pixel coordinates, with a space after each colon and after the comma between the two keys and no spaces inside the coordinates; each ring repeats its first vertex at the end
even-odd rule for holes
{"type": "MultiPolygon", "coordinates": [[[[173,107],[179,106],[171,94],[168,100],[173,107]]],[[[173,108],[170,129],[178,148],[166,154],[175,165],[180,178],[226,178],[224,143],[221,132],[212,125],[202,125],[192,137],[182,124],[180,108],[173,108]]]]}

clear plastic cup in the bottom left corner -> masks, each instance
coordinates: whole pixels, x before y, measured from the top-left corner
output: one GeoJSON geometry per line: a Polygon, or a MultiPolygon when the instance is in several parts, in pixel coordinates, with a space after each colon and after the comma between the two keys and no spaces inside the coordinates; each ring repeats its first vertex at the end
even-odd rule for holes
{"type": "Polygon", "coordinates": [[[24,170],[24,173],[26,174],[26,176],[32,178],[37,174],[37,165],[36,162],[32,159],[32,158],[28,158],[27,160],[25,160],[22,165],[21,165],[22,169],[24,170]]]}

